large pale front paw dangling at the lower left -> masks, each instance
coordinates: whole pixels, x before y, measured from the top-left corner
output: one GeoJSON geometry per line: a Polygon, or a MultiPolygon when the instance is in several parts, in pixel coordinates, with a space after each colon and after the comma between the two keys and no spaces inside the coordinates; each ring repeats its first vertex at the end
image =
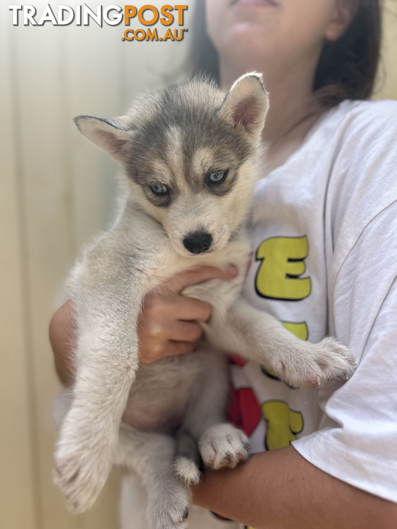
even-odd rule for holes
{"type": "Polygon", "coordinates": [[[66,417],[54,455],[53,481],[64,494],[69,512],[92,507],[112,468],[111,435],[66,417]]]}

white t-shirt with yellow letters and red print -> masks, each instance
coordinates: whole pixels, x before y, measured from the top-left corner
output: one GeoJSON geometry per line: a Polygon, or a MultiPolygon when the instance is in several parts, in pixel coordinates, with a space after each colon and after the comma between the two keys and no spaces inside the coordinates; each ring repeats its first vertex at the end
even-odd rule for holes
{"type": "MultiPolygon", "coordinates": [[[[232,418],[252,452],[291,442],[330,475],[397,501],[397,102],[345,101],[324,114],[258,181],[251,235],[246,298],[304,340],[336,336],[357,369],[300,391],[237,359],[232,418]]],[[[124,481],[123,529],[147,528],[137,488],[124,481]]],[[[242,527],[194,506],[188,521],[242,527]]]]}

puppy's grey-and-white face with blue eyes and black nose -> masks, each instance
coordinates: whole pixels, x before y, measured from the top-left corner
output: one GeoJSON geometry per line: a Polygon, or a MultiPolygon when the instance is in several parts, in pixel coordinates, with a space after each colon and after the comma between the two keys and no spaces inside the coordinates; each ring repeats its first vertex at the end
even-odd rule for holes
{"type": "Polygon", "coordinates": [[[126,168],[133,196],[163,224],[175,250],[191,256],[228,242],[254,181],[252,146],[242,135],[211,115],[195,125],[154,124],[136,138],[139,163],[126,168]]]}

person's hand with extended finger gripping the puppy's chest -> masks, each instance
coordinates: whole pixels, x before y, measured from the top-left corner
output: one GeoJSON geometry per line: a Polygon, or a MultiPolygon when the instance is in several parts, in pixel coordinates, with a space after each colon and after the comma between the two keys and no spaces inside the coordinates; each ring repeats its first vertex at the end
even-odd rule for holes
{"type": "Polygon", "coordinates": [[[153,362],[194,351],[196,342],[202,336],[202,329],[197,322],[209,320],[211,305],[182,296],[182,290],[210,279],[226,280],[236,275],[234,266],[230,266],[227,271],[201,267],[178,274],[161,293],[149,293],[138,322],[140,362],[153,362]]]}

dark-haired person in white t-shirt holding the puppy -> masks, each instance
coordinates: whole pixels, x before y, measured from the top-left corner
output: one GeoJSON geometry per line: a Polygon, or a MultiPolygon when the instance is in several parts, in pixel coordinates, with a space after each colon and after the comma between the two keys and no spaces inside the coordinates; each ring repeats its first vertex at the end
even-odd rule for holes
{"type": "MultiPolygon", "coordinates": [[[[204,472],[189,527],[395,527],[397,103],[366,101],[381,4],[198,0],[196,20],[195,72],[227,91],[240,75],[260,71],[270,96],[245,295],[303,340],[336,336],[357,369],[348,381],[303,392],[233,357],[231,418],[254,455],[236,469],[204,472]]],[[[197,321],[211,307],[180,293],[233,273],[188,272],[148,296],[140,361],[194,354],[197,321]]],[[[65,384],[73,380],[65,345],[72,322],[66,304],[50,327],[65,384]]],[[[123,529],[146,527],[142,494],[126,478],[123,529]]]]}

